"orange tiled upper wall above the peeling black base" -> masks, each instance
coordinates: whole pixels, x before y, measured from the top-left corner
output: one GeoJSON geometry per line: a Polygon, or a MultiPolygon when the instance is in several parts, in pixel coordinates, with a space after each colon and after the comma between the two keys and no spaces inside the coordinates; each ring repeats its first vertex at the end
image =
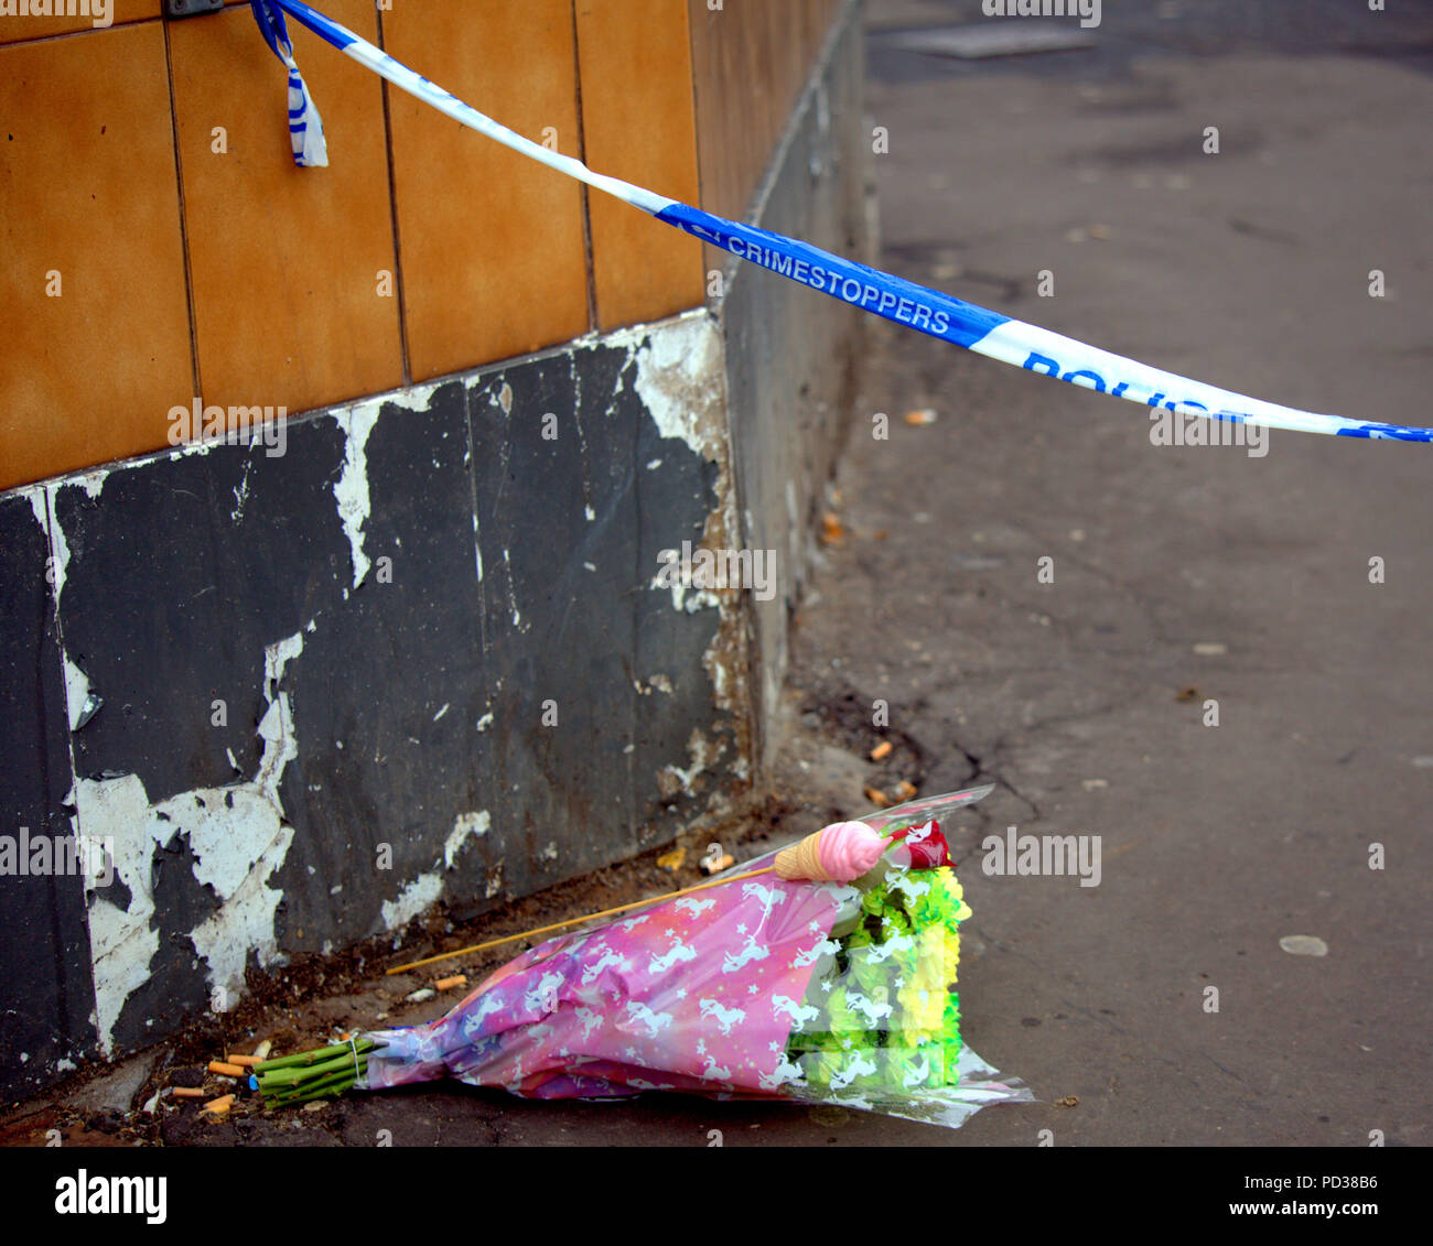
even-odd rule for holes
{"type": "MultiPolygon", "coordinates": [[[[520,133],[741,216],[838,4],[315,7],[520,133]]],[[[248,6],[159,9],[0,17],[0,488],[163,448],[195,395],[292,414],[702,302],[694,239],[291,19],[331,159],[294,168],[248,6]]]]}

